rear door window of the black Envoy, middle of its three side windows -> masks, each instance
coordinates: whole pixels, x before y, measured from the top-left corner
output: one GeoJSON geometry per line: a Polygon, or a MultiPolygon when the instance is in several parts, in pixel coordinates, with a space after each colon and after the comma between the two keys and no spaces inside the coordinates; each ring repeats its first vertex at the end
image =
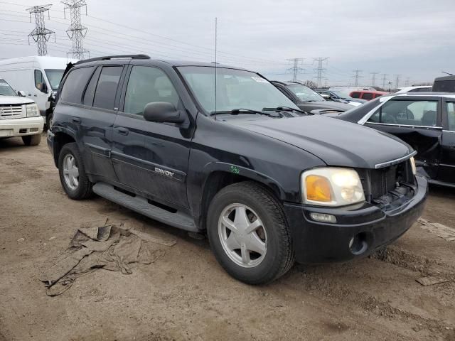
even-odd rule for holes
{"type": "Polygon", "coordinates": [[[115,94],[117,94],[122,70],[123,66],[104,66],[102,68],[97,89],[95,90],[93,107],[114,109],[115,94]]]}

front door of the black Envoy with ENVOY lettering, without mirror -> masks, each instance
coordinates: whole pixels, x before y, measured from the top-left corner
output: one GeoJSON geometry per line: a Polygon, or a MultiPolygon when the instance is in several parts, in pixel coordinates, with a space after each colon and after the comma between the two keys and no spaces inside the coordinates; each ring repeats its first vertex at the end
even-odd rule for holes
{"type": "Polygon", "coordinates": [[[185,126],[143,117],[143,109],[150,102],[169,102],[186,112],[176,86],[158,67],[132,65],[127,73],[112,144],[119,182],[156,202],[187,208],[186,173],[192,136],[189,119],[185,126]]]}

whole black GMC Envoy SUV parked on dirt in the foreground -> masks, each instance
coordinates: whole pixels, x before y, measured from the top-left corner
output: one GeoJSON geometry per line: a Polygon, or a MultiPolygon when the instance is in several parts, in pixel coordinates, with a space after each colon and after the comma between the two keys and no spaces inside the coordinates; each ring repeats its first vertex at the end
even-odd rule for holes
{"type": "Polygon", "coordinates": [[[370,254],[407,231],[427,195],[399,139],[301,112],[261,75],[210,63],[76,63],[48,145],[70,198],[95,192],[206,232],[223,268],[253,284],[294,259],[370,254]]]}

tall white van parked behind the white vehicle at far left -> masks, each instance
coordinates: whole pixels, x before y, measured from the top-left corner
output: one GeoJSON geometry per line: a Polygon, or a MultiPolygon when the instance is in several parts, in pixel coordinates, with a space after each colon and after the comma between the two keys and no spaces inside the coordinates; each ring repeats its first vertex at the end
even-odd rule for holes
{"type": "Polygon", "coordinates": [[[21,57],[0,60],[0,78],[25,97],[38,104],[41,116],[49,124],[51,110],[48,99],[55,94],[68,63],[77,60],[60,57],[21,57]]]}

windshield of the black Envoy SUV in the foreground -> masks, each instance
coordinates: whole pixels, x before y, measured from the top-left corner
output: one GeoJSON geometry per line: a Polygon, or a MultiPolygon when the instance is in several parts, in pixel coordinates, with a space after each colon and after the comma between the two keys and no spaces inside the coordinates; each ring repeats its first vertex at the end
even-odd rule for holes
{"type": "Polygon", "coordinates": [[[191,91],[206,112],[232,109],[262,111],[265,107],[299,109],[268,80],[254,72],[217,67],[215,109],[215,67],[178,67],[191,91]]]}

